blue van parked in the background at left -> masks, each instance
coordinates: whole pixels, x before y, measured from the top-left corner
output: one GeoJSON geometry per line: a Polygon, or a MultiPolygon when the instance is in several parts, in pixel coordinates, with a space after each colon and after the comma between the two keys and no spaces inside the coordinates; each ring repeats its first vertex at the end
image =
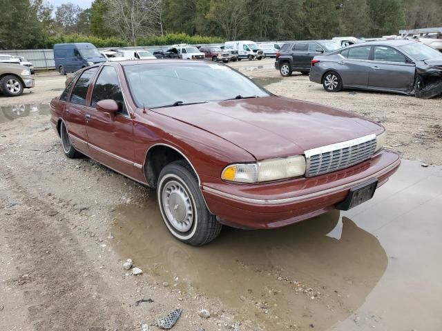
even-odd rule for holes
{"type": "Polygon", "coordinates": [[[54,61],[55,70],[66,75],[107,60],[92,43],[56,43],[54,61]]]}

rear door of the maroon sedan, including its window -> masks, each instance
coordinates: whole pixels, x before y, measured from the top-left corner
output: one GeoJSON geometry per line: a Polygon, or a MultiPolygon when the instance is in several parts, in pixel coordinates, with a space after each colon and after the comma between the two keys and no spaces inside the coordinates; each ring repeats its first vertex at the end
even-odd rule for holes
{"type": "Polygon", "coordinates": [[[97,70],[97,67],[93,67],[81,74],[64,108],[64,121],[70,141],[76,150],[85,154],[89,154],[86,133],[86,96],[97,70]]]}

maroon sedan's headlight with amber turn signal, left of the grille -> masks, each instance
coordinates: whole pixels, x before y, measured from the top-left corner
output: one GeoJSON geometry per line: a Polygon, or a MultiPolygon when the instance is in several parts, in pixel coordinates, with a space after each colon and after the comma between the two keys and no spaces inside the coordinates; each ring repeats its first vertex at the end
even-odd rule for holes
{"type": "Polygon", "coordinates": [[[238,183],[276,181],[305,174],[305,157],[297,155],[268,159],[257,163],[237,163],[224,168],[221,178],[238,183]]]}

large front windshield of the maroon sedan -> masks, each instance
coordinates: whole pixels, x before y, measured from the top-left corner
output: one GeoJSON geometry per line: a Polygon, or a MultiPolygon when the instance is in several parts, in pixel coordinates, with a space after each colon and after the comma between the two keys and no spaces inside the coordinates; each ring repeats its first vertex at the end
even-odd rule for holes
{"type": "Polygon", "coordinates": [[[139,64],[125,66],[124,71],[140,108],[270,95],[239,72],[219,64],[139,64]]]}

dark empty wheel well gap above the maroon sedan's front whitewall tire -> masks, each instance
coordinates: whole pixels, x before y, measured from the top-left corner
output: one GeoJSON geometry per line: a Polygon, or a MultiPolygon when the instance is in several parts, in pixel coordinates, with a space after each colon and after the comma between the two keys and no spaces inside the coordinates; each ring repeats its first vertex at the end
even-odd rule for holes
{"type": "Polygon", "coordinates": [[[180,153],[169,146],[154,146],[148,150],[144,161],[144,175],[152,188],[157,187],[161,170],[169,163],[177,160],[186,160],[180,153]]]}

